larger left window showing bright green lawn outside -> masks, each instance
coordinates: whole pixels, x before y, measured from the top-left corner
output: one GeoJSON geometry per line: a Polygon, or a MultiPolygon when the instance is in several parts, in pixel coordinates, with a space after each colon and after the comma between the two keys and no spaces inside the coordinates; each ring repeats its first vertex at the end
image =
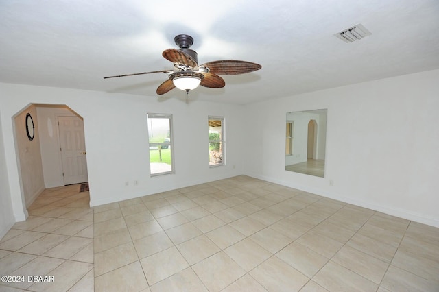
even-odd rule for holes
{"type": "Polygon", "coordinates": [[[174,173],[172,114],[147,114],[151,176],[174,173]]]}

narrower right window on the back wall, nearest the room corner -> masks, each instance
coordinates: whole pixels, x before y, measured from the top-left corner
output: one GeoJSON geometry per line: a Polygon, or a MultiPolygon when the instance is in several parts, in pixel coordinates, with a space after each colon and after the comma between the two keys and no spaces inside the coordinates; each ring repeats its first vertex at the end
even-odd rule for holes
{"type": "Polygon", "coordinates": [[[224,117],[209,117],[209,165],[224,165],[224,117]]]}

